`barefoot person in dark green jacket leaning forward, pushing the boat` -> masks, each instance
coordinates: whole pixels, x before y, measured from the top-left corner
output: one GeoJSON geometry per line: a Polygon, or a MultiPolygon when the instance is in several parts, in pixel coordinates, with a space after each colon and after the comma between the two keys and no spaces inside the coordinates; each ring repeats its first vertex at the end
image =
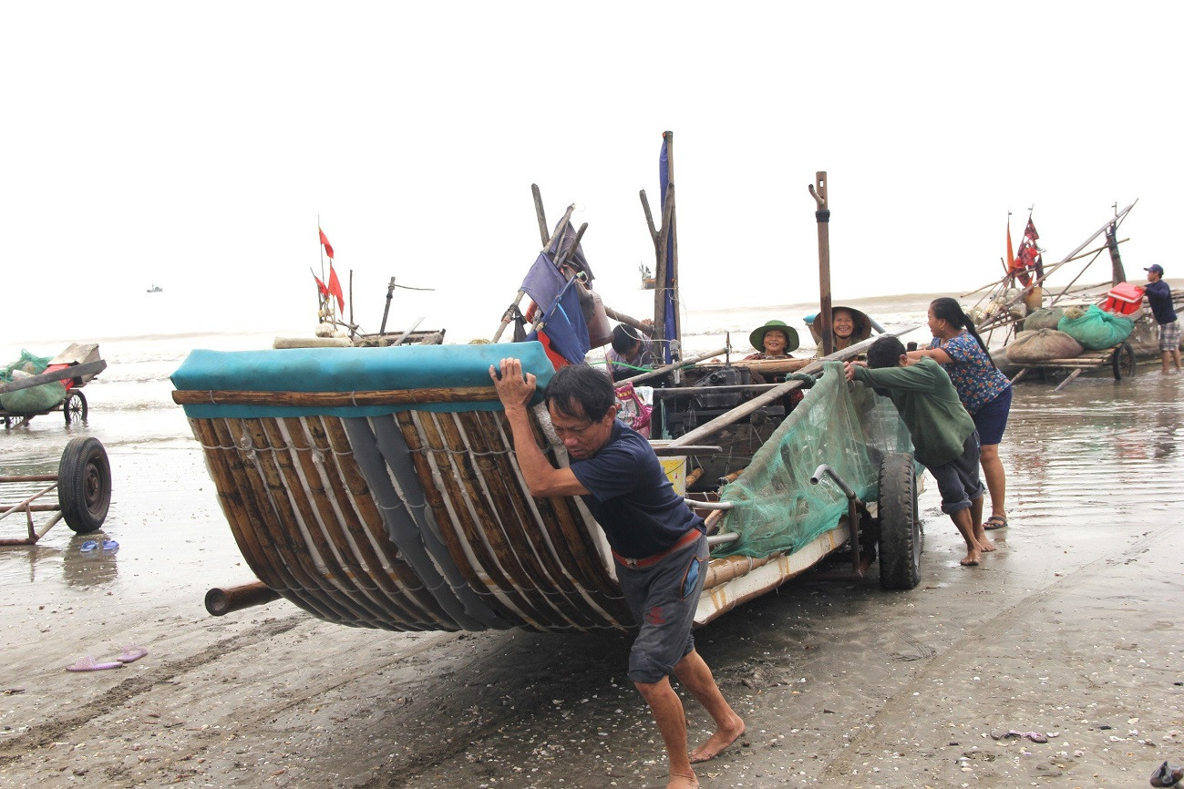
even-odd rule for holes
{"type": "Polygon", "coordinates": [[[913,436],[913,454],[941,492],[941,511],[966,541],[966,567],[978,564],[995,543],[983,530],[983,480],[978,476],[978,431],[941,366],[927,356],[909,358],[896,337],[881,337],[868,361],[845,362],[848,381],[870,384],[892,399],[913,436]]]}

